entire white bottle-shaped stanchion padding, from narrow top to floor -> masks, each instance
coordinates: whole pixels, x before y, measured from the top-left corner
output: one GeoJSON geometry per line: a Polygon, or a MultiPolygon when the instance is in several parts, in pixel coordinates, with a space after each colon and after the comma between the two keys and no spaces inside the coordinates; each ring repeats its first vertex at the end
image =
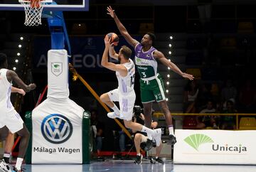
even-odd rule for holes
{"type": "Polygon", "coordinates": [[[82,163],[84,109],[68,98],[68,54],[48,51],[48,98],[32,111],[32,163],[82,163]]]}

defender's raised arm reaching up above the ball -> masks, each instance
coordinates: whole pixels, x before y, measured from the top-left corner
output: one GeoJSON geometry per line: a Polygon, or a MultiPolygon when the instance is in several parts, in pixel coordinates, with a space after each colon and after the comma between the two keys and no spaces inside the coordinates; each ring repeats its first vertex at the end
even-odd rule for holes
{"type": "Polygon", "coordinates": [[[132,36],[129,35],[127,29],[119,21],[119,18],[114,13],[114,10],[112,9],[112,7],[108,6],[107,11],[108,11],[107,14],[109,14],[112,18],[114,18],[114,22],[117,24],[117,28],[118,28],[119,32],[122,34],[122,36],[124,36],[125,40],[129,43],[129,45],[132,45],[133,47],[135,47],[135,45],[137,45],[137,43],[139,43],[139,42],[137,40],[135,40],[134,38],[132,38],[132,36]]]}

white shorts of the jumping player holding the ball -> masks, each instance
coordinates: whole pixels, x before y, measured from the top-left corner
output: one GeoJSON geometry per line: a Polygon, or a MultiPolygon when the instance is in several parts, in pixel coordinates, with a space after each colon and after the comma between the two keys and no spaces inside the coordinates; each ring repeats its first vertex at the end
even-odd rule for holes
{"type": "Polygon", "coordinates": [[[135,92],[131,92],[128,95],[121,95],[118,89],[107,92],[112,102],[119,102],[120,117],[119,119],[125,119],[127,121],[132,120],[133,108],[136,100],[135,92]]]}

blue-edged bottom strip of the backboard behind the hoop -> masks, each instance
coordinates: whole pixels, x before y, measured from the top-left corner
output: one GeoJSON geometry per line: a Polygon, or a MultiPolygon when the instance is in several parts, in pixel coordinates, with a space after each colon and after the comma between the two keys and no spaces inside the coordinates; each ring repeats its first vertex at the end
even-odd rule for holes
{"type": "MultiPolygon", "coordinates": [[[[88,11],[89,0],[54,0],[57,4],[46,4],[47,11],[88,11]]],[[[0,10],[24,10],[18,0],[0,0],[0,10]]]]}

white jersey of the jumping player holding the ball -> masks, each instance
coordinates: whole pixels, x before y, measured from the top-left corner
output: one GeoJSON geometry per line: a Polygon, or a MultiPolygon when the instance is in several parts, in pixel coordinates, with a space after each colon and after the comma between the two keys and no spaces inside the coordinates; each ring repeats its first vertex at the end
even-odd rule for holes
{"type": "Polygon", "coordinates": [[[127,76],[122,77],[119,72],[116,72],[118,80],[118,90],[121,95],[128,95],[134,92],[134,77],[135,77],[135,65],[132,59],[129,58],[129,62],[123,63],[125,68],[127,68],[127,76]]]}

